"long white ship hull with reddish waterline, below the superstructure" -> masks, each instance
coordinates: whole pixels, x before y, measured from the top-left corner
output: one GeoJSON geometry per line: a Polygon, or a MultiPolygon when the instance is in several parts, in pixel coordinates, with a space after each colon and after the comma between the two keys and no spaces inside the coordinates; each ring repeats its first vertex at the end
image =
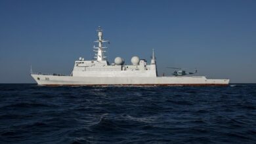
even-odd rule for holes
{"type": "Polygon", "coordinates": [[[34,75],[39,85],[45,86],[227,86],[229,79],[205,77],[72,77],[34,75]]]}

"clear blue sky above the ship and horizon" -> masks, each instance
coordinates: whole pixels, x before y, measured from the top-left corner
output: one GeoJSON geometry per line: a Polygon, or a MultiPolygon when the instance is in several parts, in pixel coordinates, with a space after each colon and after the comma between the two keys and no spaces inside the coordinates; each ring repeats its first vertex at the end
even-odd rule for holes
{"type": "Polygon", "coordinates": [[[158,73],[256,82],[256,1],[0,0],[0,83],[32,83],[33,72],[69,75],[80,56],[92,60],[101,26],[108,61],[132,56],[158,73]]]}

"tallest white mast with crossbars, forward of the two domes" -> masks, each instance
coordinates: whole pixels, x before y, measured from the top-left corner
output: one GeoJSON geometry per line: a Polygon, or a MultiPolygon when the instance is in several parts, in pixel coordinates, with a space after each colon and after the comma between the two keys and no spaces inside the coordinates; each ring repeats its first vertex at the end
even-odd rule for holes
{"type": "Polygon", "coordinates": [[[102,44],[108,41],[104,41],[102,29],[100,26],[98,27],[97,31],[98,31],[98,39],[95,41],[95,43],[98,43],[98,47],[94,46],[94,48],[97,49],[97,50],[94,50],[96,52],[95,58],[97,61],[104,61],[106,60],[106,56],[104,56],[104,53],[106,52],[106,50],[103,50],[103,49],[107,47],[102,46],[102,44]]]}

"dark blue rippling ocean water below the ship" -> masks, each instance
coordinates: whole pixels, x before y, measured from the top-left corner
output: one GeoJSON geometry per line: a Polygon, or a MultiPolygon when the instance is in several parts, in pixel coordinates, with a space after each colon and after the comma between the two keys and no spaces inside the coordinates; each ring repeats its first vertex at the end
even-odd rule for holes
{"type": "Polygon", "coordinates": [[[0,84],[0,143],[256,143],[256,84],[0,84]]]}

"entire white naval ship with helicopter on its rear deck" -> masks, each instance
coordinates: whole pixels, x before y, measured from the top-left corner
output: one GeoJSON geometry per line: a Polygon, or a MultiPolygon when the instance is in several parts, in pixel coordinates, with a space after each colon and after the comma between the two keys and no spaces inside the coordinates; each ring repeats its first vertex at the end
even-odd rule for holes
{"type": "Polygon", "coordinates": [[[75,60],[74,69],[70,75],[33,73],[31,76],[42,86],[227,86],[229,79],[207,79],[205,76],[190,75],[182,69],[177,69],[171,76],[158,76],[154,49],[150,63],[139,56],[131,58],[131,64],[126,64],[121,57],[116,57],[110,63],[106,57],[106,41],[103,39],[101,27],[97,29],[97,46],[93,46],[95,57],[85,60],[79,57],[75,60]]]}

